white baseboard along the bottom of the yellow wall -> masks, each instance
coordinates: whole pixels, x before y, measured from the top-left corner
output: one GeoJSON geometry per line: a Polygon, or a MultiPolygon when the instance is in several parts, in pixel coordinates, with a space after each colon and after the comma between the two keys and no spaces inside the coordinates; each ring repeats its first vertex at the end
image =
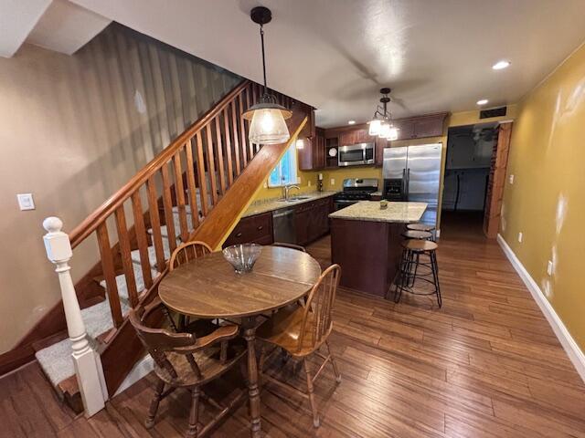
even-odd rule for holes
{"type": "Polygon", "coordinates": [[[505,256],[508,258],[512,266],[516,269],[516,272],[524,281],[524,284],[527,285],[530,294],[537,302],[540,311],[543,313],[545,318],[548,320],[548,324],[555,332],[560,345],[563,346],[563,349],[567,352],[569,356],[569,360],[572,362],[575,370],[581,376],[581,379],[585,381],[585,354],[579,348],[575,339],[570,336],[569,330],[563,324],[563,321],[558,318],[558,314],[552,305],[548,302],[547,297],[542,293],[540,287],[538,287],[537,282],[534,281],[534,278],[528,274],[527,268],[522,265],[512,248],[505,242],[504,237],[502,235],[497,235],[497,242],[500,244],[502,249],[504,250],[505,256]]]}

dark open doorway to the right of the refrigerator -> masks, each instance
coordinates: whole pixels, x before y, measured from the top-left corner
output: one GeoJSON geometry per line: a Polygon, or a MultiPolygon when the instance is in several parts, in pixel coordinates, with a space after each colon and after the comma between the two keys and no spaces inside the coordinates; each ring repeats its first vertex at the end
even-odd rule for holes
{"type": "Polygon", "coordinates": [[[498,131],[497,122],[449,129],[441,204],[447,228],[463,225],[477,234],[485,228],[498,131]]]}

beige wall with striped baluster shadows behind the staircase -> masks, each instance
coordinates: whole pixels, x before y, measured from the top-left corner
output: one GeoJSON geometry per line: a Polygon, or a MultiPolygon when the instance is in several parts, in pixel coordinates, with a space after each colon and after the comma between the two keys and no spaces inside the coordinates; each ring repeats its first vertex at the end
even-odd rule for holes
{"type": "MultiPolygon", "coordinates": [[[[0,353],[60,299],[43,219],[79,224],[238,82],[118,25],[73,56],[24,46],[0,57],[0,353]],[[16,193],[37,209],[20,212],[16,193]]],[[[94,251],[75,251],[74,276],[94,251]]]]}

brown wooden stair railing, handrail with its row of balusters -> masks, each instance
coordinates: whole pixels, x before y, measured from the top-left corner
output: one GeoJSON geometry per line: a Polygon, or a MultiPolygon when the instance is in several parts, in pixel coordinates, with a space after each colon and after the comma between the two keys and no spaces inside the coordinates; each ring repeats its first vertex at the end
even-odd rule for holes
{"type": "MultiPolygon", "coordinates": [[[[292,99],[276,94],[282,104],[292,104],[292,99]]],[[[186,241],[258,152],[248,141],[249,122],[241,115],[260,95],[258,84],[242,81],[70,232],[72,248],[93,233],[97,237],[101,260],[94,274],[99,273],[105,280],[114,328],[124,320],[116,276],[125,276],[127,306],[135,307],[142,292],[154,284],[150,242],[154,245],[156,270],[162,273],[177,238],[186,241]],[[130,227],[127,212],[133,217],[130,227]],[[152,235],[147,232],[149,228],[152,235]],[[115,245],[112,235],[117,236],[115,245]],[[136,287],[133,249],[140,254],[142,290],[136,287]]]]}

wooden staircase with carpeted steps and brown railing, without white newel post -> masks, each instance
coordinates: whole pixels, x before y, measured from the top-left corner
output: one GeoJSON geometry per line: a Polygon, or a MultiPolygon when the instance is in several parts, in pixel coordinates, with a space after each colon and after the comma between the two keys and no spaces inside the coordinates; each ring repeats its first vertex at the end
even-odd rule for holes
{"type": "MultiPolygon", "coordinates": [[[[220,247],[310,119],[311,107],[272,93],[293,110],[290,141],[265,148],[248,141],[249,124],[241,114],[260,99],[261,86],[244,80],[69,233],[73,264],[76,247],[96,248],[98,262],[75,292],[111,396],[144,356],[126,318],[129,310],[156,296],[177,245],[197,239],[220,247]]],[[[80,411],[71,340],[64,318],[62,323],[52,324],[60,329],[44,333],[33,348],[58,394],[80,411]]]]}

